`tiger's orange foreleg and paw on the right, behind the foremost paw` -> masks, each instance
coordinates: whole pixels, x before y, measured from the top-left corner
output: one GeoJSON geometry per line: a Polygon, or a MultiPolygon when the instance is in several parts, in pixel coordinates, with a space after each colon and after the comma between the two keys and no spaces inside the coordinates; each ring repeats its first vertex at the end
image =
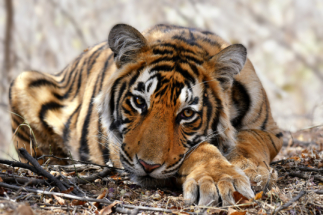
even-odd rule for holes
{"type": "Polygon", "coordinates": [[[263,188],[277,179],[277,173],[269,167],[282,147],[282,133],[276,135],[258,130],[242,130],[237,135],[237,145],[226,158],[241,168],[252,183],[263,188]]]}

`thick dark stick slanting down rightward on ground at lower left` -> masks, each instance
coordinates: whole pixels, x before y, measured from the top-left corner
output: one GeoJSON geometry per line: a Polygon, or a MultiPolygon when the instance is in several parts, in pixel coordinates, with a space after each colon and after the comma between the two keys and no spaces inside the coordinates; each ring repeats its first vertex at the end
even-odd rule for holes
{"type": "Polygon", "coordinates": [[[27,160],[29,161],[36,169],[36,172],[37,174],[39,175],[42,175],[46,178],[48,178],[48,180],[50,180],[51,182],[53,182],[57,187],[58,189],[60,189],[60,191],[65,191],[68,189],[68,187],[65,187],[64,184],[58,180],[57,178],[55,178],[52,174],[50,174],[49,172],[45,171],[41,166],[40,164],[38,163],[38,161],[33,158],[28,152],[26,149],[24,148],[20,148],[18,149],[18,151],[20,152],[20,154],[27,160]]]}

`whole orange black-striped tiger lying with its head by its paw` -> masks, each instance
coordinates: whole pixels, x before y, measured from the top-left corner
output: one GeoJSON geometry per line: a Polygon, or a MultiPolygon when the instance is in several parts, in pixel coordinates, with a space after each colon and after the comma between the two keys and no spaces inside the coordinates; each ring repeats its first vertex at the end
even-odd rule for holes
{"type": "Polygon", "coordinates": [[[283,134],[247,49],[210,31],[117,24],[61,72],[21,73],[9,100],[16,148],[110,162],[186,204],[233,205],[277,179],[283,134]]]}

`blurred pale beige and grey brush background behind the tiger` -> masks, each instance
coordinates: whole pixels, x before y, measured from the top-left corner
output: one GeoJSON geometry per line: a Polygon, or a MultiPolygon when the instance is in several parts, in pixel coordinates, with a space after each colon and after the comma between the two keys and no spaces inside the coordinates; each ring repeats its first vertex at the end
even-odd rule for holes
{"type": "Polygon", "coordinates": [[[321,0],[2,0],[0,151],[10,151],[10,82],[24,70],[56,73],[117,23],[139,31],[169,23],[242,43],[287,131],[323,124],[321,0]]]}

